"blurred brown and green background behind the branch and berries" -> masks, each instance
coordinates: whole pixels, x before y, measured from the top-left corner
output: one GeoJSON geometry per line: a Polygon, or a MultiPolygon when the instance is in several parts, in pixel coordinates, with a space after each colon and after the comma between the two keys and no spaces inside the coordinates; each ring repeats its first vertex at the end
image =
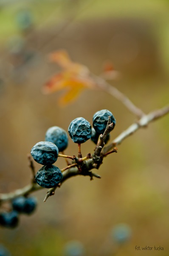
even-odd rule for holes
{"type": "MultiPolygon", "coordinates": [[[[168,0],[0,0],[0,192],[30,182],[27,154],[49,127],[67,131],[76,117],[92,123],[96,111],[108,109],[117,121],[113,140],[136,120],[101,91],[85,90],[64,107],[62,91],[43,95],[60,70],[48,61],[58,49],[96,75],[112,61],[121,76],[110,84],[145,113],[169,101],[168,0]]],[[[168,128],[165,116],[127,138],[104,159],[101,180],[71,178],[45,203],[47,189],[35,192],[37,211],[22,215],[14,230],[0,228],[0,243],[12,256],[168,256],[168,128]]],[[[87,141],[82,154],[94,148],[87,141]]],[[[77,154],[71,139],[65,153],[77,154]]]]}

